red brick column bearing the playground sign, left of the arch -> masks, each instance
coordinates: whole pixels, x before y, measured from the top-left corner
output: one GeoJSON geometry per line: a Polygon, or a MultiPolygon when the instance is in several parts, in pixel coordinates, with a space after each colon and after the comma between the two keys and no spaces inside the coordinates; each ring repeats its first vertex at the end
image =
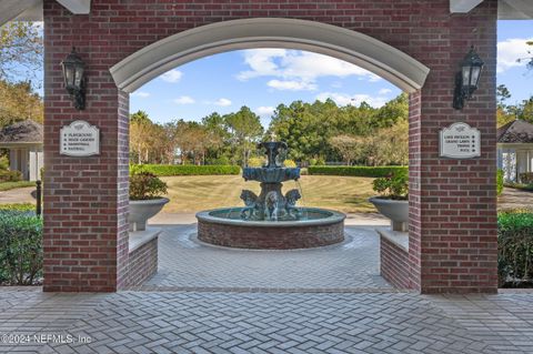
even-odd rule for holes
{"type": "MultiPolygon", "coordinates": [[[[44,1],[44,291],[112,292],[127,283],[128,95],[107,70],[113,42],[44,1]],[[76,45],[87,63],[87,109],[68,97],[60,62],[76,45]],[[59,154],[59,133],[74,120],[100,129],[100,155],[59,154]]],[[[109,33],[109,30],[107,30],[109,33]]]]}

